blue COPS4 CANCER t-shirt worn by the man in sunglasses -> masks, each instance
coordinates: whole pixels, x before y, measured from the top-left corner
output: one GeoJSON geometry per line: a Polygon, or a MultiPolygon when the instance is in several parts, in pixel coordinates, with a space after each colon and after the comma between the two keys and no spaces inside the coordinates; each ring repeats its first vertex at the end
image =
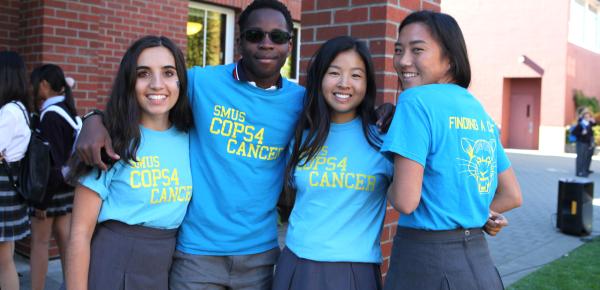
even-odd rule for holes
{"type": "Polygon", "coordinates": [[[277,247],[275,205],[304,88],[284,79],[282,88],[263,90],[234,79],[234,67],[188,71],[196,190],[177,240],[184,253],[245,255],[277,247]]]}

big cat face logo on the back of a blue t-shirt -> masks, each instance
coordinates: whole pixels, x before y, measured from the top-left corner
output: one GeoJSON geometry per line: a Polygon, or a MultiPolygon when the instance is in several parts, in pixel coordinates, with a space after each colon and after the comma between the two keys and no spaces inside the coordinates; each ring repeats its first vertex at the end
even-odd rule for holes
{"type": "Polygon", "coordinates": [[[467,153],[468,159],[461,159],[461,166],[466,167],[466,172],[477,181],[477,190],[480,194],[489,194],[493,176],[496,174],[496,140],[460,140],[462,150],[467,153]]]}

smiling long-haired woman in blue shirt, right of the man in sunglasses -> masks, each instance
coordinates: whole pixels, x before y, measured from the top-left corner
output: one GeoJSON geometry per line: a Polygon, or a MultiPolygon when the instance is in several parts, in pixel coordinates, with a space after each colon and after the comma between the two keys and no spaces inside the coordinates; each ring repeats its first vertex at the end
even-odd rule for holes
{"type": "Polygon", "coordinates": [[[321,46],[309,65],[285,175],[295,205],[273,289],[381,288],[379,237],[392,163],[379,153],[375,96],[363,42],[341,36],[321,46]]]}

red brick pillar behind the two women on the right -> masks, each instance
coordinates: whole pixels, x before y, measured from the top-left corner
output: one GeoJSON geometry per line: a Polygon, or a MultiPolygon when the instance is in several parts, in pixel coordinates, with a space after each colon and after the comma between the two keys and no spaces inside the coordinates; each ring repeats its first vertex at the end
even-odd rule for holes
{"type": "MultiPolygon", "coordinates": [[[[300,59],[301,83],[306,68],[317,48],[339,35],[352,35],[367,42],[377,79],[378,103],[395,103],[397,76],[392,57],[398,37],[398,26],[415,10],[440,10],[440,0],[305,0],[302,2],[302,47],[300,59]]],[[[391,206],[385,216],[381,234],[384,256],[382,273],[389,267],[393,237],[399,214],[391,206]]]]}

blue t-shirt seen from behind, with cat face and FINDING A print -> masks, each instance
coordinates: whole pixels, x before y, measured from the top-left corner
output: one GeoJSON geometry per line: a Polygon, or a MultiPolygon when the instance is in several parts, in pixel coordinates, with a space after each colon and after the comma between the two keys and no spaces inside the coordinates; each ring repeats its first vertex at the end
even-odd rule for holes
{"type": "Polygon", "coordinates": [[[485,224],[498,174],[510,167],[498,128],[466,89],[454,84],[404,91],[382,152],[423,165],[417,209],[398,225],[425,230],[485,224]]]}

